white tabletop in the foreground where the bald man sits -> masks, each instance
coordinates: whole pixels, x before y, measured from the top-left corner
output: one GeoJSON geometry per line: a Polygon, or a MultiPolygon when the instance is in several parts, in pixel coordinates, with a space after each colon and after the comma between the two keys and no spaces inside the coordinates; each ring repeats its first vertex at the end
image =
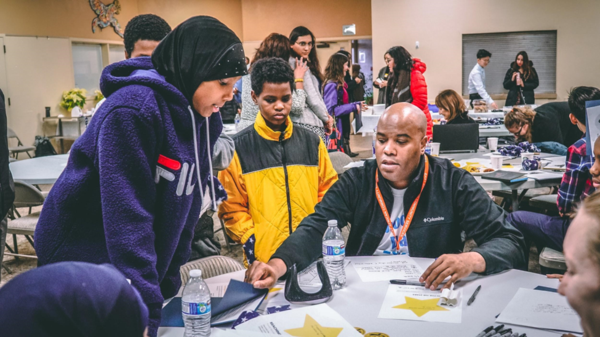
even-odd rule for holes
{"type": "MultiPolygon", "coordinates": [[[[348,257],[351,261],[369,258],[348,257]]],[[[415,260],[424,269],[433,261],[432,259],[422,258],[415,260]]],[[[509,270],[496,275],[479,277],[472,281],[459,282],[455,288],[464,289],[462,323],[452,324],[379,319],[377,316],[389,283],[363,283],[352,267],[352,263],[346,268],[346,276],[346,287],[335,291],[333,298],[327,304],[342,315],[352,326],[360,327],[366,332],[385,333],[388,336],[474,337],[484,328],[497,325],[495,323],[496,315],[506,307],[519,288],[533,289],[537,286],[557,288],[559,284],[556,279],[547,279],[543,275],[518,270],[509,270]],[[477,299],[471,306],[467,306],[466,301],[479,285],[481,285],[481,291],[477,299]]],[[[232,278],[242,281],[244,271],[220,275],[206,281],[209,284],[223,283],[232,278]]],[[[292,305],[292,308],[294,307],[297,306],[292,305]]],[[[526,333],[529,337],[560,336],[560,334],[538,329],[509,325],[507,327],[511,327],[515,332],[526,333]]],[[[158,336],[181,337],[183,336],[183,330],[183,328],[160,328],[158,336]]]]}

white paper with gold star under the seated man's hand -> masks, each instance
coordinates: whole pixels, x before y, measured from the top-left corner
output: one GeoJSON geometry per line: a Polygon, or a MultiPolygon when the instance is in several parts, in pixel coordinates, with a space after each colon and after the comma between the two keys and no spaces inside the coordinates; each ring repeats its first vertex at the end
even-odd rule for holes
{"type": "Polygon", "coordinates": [[[378,318],[409,321],[461,323],[462,289],[458,292],[458,304],[454,307],[439,304],[441,293],[419,286],[389,285],[381,304],[378,318]]]}

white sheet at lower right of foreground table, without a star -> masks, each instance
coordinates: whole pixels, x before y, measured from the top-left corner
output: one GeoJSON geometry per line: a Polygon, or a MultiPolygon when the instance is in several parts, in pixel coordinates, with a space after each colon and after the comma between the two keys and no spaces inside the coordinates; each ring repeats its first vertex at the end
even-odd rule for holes
{"type": "Polygon", "coordinates": [[[496,322],[582,333],[579,316],[558,293],[520,288],[496,322]]]}

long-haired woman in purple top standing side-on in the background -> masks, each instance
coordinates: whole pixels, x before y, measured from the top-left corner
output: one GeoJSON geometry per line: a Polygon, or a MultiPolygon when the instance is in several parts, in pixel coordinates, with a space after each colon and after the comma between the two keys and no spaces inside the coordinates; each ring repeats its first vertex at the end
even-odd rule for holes
{"type": "Polygon", "coordinates": [[[349,63],[350,61],[343,54],[331,55],[325,68],[323,98],[327,111],[337,121],[337,131],[341,133],[339,139],[337,139],[338,137],[332,139],[337,144],[329,144],[328,147],[356,157],[358,154],[352,153],[350,150],[350,113],[365,110],[366,106],[364,102],[349,102],[348,84],[344,80],[346,72],[350,69],[349,63]]]}

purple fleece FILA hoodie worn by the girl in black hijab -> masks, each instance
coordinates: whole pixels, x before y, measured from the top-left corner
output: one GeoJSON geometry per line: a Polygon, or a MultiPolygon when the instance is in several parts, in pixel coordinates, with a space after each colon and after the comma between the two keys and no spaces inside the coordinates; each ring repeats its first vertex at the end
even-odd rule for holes
{"type": "MultiPolygon", "coordinates": [[[[181,286],[179,267],[189,258],[202,207],[192,116],[149,57],[106,67],[100,88],[107,100],[73,144],[44,203],[35,249],[39,265],[116,266],[142,295],[155,336],[163,300],[181,286]]],[[[193,114],[202,190],[213,179],[216,199],[224,199],[209,169],[207,120],[193,114]]],[[[222,122],[219,114],[208,121],[212,149],[222,122]]]]}

